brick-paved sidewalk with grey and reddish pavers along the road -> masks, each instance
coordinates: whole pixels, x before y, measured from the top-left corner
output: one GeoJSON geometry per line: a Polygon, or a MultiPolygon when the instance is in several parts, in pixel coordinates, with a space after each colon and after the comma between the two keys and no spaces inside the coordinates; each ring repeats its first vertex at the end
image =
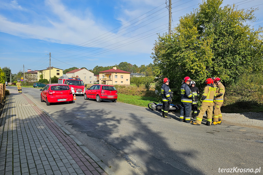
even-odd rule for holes
{"type": "Polygon", "coordinates": [[[14,90],[0,118],[0,138],[0,175],[114,175],[49,114],[14,90]]]}

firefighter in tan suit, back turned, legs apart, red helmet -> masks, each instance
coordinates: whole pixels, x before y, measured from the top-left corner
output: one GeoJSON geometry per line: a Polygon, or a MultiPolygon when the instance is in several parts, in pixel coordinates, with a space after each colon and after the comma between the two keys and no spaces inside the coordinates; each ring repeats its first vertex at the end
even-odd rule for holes
{"type": "Polygon", "coordinates": [[[212,113],[213,113],[213,103],[216,95],[216,89],[214,88],[213,84],[214,81],[211,78],[208,78],[205,80],[205,83],[207,86],[204,87],[204,93],[201,98],[201,107],[200,107],[200,113],[196,117],[196,121],[192,122],[193,125],[200,125],[203,120],[203,115],[205,111],[207,110],[207,122],[206,125],[210,126],[212,122],[212,113]]]}

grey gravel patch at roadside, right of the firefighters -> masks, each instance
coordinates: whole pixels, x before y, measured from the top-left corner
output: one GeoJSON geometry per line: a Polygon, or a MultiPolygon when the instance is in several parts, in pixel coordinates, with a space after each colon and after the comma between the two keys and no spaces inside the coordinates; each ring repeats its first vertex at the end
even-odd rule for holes
{"type": "Polygon", "coordinates": [[[222,113],[223,120],[250,126],[263,127],[263,113],[247,112],[240,114],[222,113]]]}

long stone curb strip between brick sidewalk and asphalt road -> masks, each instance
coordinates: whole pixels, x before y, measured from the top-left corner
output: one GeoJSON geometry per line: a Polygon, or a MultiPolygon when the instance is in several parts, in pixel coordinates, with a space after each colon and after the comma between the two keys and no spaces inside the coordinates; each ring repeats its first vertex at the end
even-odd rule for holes
{"type": "MultiPolygon", "coordinates": [[[[27,94],[25,93],[24,95],[27,96],[27,94]]],[[[48,114],[44,109],[42,109],[39,105],[37,105],[33,99],[31,99],[29,96],[27,96],[27,98],[29,98],[37,107],[39,107],[45,114],[47,114],[48,117],[50,117],[52,121],[54,121],[54,123],[57,124],[59,128],[61,128],[66,133],[66,135],[71,137],[76,142],[76,144],[78,144],[79,147],[83,149],[83,151],[86,152],[87,155],[91,157],[91,159],[93,159],[96,163],[98,163],[98,165],[101,166],[101,168],[108,175],[115,175],[115,173],[112,170],[110,170],[110,168],[107,165],[105,165],[105,163],[103,163],[97,156],[95,156],[89,149],[87,149],[87,147],[85,147],[75,136],[73,136],[68,130],[66,130],[66,128],[64,128],[61,124],[59,124],[50,114],[48,114]]]]}

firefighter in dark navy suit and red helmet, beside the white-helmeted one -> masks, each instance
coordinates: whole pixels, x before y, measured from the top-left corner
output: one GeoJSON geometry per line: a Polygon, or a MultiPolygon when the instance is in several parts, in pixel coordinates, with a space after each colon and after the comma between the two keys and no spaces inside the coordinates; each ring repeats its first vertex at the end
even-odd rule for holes
{"type": "Polygon", "coordinates": [[[181,110],[180,110],[180,121],[185,121],[186,123],[190,123],[190,111],[191,104],[193,101],[193,95],[189,84],[192,80],[190,77],[185,77],[181,86],[181,110]]]}

